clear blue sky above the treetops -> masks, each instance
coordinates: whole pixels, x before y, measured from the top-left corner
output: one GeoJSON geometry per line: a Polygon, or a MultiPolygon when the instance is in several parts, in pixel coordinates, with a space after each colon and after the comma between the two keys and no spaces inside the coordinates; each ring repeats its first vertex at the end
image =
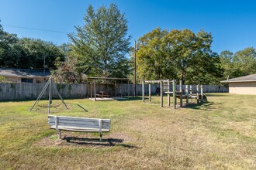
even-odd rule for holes
{"type": "Polygon", "coordinates": [[[161,27],[212,32],[212,49],[217,53],[226,49],[237,52],[248,46],[256,48],[256,1],[253,0],[0,0],[0,24],[5,31],[19,37],[61,44],[69,39],[66,33],[60,32],[74,32],[74,26],[81,26],[88,5],[98,8],[110,3],[125,13],[132,44],[134,39],[161,27]]]}

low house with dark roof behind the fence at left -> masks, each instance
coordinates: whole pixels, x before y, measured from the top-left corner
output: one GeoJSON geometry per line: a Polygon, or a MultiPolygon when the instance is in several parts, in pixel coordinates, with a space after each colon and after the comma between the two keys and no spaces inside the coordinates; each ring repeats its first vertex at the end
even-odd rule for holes
{"type": "Polygon", "coordinates": [[[50,70],[0,68],[0,76],[12,83],[44,83],[50,77],[50,70]]]}

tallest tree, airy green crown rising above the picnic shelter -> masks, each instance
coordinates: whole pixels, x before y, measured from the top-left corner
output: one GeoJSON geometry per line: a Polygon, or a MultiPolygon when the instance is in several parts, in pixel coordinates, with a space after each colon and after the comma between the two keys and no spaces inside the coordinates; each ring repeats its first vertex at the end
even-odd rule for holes
{"type": "Polygon", "coordinates": [[[96,10],[90,5],[84,22],[84,26],[76,26],[76,32],[69,35],[70,56],[78,61],[78,71],[89,76],[126,77],[130,36],[124,15],[114,4],[96,10]]]}

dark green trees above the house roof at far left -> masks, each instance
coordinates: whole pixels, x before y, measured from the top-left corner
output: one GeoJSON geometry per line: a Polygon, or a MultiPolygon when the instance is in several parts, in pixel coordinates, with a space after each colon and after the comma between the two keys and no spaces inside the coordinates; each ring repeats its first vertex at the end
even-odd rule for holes
{"type": "Polygon", "coordinates": [[[55,59],[64,60],[64,52],[52,42],[22,38],[5,32],[0,25],[0,67],[41,69],[43,58],[47,68],[54,68],[55,59]]]}

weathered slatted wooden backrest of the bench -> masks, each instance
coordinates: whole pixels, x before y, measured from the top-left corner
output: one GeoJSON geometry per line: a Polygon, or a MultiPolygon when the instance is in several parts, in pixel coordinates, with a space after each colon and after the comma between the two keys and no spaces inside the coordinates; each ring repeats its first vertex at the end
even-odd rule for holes
{"type": "Polygon", "coordinates": [[[57,117],[58,126],[77,127],[77,128],[99,128],[100,123],[102,129],[109,129],[110,119],[86,118],[86,117],[65,117],[65,116],[48,116],[48,123],[50,126],[55,125],[57,117]]]}

